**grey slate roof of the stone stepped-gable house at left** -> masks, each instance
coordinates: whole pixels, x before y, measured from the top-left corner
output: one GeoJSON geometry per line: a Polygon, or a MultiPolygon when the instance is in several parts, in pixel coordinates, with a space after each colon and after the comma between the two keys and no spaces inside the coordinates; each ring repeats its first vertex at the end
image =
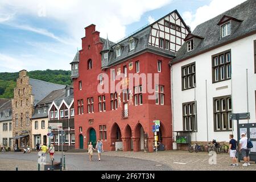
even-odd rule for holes
{"type": "Polygon", "coordinates": [[[50,82],[30,78],[32,94],[34,94],[34,105],[46,97],[53,90],[64,89],[66,85],[52,84],[50,82]]]}

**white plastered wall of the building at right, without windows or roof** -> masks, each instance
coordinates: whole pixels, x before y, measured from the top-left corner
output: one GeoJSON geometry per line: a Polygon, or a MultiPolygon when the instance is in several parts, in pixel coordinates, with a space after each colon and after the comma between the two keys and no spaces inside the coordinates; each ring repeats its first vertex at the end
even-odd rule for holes
{"type": "MultiPolygon", "coordinates": [[[[214,132],[213,124],[213,98],[231,95],[233,92],[233,111],[234,113],[247,112],[246,98],[246,69],[248,69],[249,81],[249,112],[251,119],[249,122],[256,122],[255,115],[255,90],[256,74],[254,74],[254,47],[256,34],[230,43],[226,46],[216,48],[202,55],[181,61],[172,65],[173,93],[174,102],[174,131],[183,130],[182,104],[184,102],[194,101],[196,92],[197,101],[197,141],[207,141],[207,111],[205,80],[208,81],[208,130],[209,140],[216,139],[220,142],[228,141],[230,131],[214,132]],[[232,81],[222,81],[212,84],[212,55],[231,49],[232,56],[232,81]],[[181,91],[181,67],[189,63],[196,62],[196,91],[195,89],[181,91]],[[231,85],[233,89],[231,89],[231,85]],[[228,88],[216,90],[216,88],[228,86],[228,88]]],[[[242,122],[247,122],[242,121],[242,122]]],[[[241,122],[241,123],[242,123],[241,122]]],[[[237,138],[237,123],[234,121],[234,137],[237,138]]],[[[176,137],[175,137],[176,138],[176,137]]],[[[195,141],[195,134],[192,135],[192,141],[195,141]]],[[[176,145],[174,144],[174,147],[176,145]]]]}

